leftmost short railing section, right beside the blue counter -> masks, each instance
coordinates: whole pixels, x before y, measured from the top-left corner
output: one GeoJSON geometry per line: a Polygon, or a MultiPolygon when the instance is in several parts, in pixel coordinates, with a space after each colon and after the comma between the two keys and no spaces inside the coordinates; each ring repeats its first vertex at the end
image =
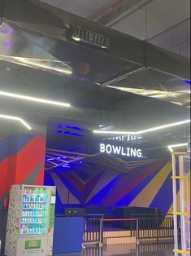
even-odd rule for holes
{"type": "Polygon", "coordinates": [[[84,218],[83,248],[103,245],[103,215],[91,214],[84,218]]]}

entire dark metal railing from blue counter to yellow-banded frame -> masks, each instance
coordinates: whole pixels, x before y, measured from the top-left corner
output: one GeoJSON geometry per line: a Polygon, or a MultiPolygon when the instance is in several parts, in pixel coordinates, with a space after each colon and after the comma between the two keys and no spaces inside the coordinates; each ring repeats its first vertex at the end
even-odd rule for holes
{"type": "Polygon", "coordinates": [[[85,216],[84,248],[91,245],[102,246],[108,240],[137,242],[169,241],[174,237],[172,216],[143,218],[104,219],[103,215],[85,216]],[[132,237],[132,240],[130,239],[132,237]]]}

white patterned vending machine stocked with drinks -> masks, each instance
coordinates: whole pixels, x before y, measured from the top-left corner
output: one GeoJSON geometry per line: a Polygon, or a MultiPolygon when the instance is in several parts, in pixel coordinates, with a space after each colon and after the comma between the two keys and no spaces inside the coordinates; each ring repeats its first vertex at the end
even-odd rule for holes
{"type": "Polygon", "coordinates": [[[7,256],[52,255],[55,187],[13,185],[7,219],[7,256]]]}

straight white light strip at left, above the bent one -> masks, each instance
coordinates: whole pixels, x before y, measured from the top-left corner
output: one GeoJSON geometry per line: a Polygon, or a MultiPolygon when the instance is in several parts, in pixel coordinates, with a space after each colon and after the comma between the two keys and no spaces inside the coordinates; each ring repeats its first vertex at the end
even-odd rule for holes
{"type": "Polygon", "coordinates": [[[51,105],[56,105],[56,106],[59,106],[59,107],[65,107],[65,108],[71,107],[71,104],[67,104],[67,103],[63,103],[63,102],[59,102],[59,101],[35,98],[35,97],[27,96],[27,95],[19,95],[19,94],[7,92],[7,91],[2,91],[2,90],[0,90],[0,95],[15,98],[15,99],[24,99],[24,100],[28,100],[28,101],[41,103],[41,104],[51,104],[51,105]]]}

